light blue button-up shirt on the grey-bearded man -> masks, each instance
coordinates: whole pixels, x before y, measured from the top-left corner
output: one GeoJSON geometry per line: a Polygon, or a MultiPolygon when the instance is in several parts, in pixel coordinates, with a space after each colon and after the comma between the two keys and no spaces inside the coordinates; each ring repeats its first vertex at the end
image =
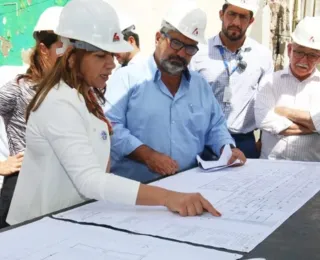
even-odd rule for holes
{"type": "Polygon", "coordinates": [[[160,175],[126,156],[141,145],[176,160],[179,170],[196,165],[208,145],[215,154],[233,144],[219,103],[196,72],[184,72],[175,96],[161,80],[154,57],[121,68],[107,82],[106,116],[112,122],[111,170],[138,181],[160,175]]]}

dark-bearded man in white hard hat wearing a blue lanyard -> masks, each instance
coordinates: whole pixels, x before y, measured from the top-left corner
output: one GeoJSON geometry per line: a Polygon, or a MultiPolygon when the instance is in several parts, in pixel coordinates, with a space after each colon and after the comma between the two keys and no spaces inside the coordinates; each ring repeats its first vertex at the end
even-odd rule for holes
{"type": "Polygon", "coordinates": [[[258,158],[254,101],[263,77],[273,73],[271,52],[246,36],[254,22],[258,0],[227,0],[220,11],[222,28],[192,59],[227,118],[237,147],[247,158],[258,158]]]}

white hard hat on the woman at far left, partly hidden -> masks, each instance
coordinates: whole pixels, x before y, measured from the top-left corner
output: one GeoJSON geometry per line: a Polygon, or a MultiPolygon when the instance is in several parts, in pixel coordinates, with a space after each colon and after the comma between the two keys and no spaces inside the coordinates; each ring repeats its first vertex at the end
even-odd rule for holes
{"type": "Polygon", "coordinates": [[[54,31],[59,22],[59,17],[63,7],[49,7],[40,15],[36,26],[33,29],[33,36],[39,31],[54,31]]]}

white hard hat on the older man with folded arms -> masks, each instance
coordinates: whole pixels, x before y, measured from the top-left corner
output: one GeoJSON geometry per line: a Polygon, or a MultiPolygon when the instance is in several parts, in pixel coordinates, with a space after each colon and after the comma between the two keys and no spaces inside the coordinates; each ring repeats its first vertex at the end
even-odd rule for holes
{"type": "Polygon", "coordinates": [[[320,17],[305,17],[294,32],[292,40],[304,47],[320,50],[320,17]]]}

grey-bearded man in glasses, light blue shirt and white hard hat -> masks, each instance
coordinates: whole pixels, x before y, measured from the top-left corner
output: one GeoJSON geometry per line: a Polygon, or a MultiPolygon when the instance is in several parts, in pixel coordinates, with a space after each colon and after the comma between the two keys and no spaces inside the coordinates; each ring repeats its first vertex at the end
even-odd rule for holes
{"type": "MultiPolygon", "coordinates": [[[[190,1],[169,10],[154,55],[117,71],[107,87],[112,172],[139,181],[196,166],[205,145],[217,155],[234,145],[208,83],[187,69],[205,41],[206,15],[190,1]]],[[[245,162],[240,150],[232,153],[230,163],[245,162]]]]}

